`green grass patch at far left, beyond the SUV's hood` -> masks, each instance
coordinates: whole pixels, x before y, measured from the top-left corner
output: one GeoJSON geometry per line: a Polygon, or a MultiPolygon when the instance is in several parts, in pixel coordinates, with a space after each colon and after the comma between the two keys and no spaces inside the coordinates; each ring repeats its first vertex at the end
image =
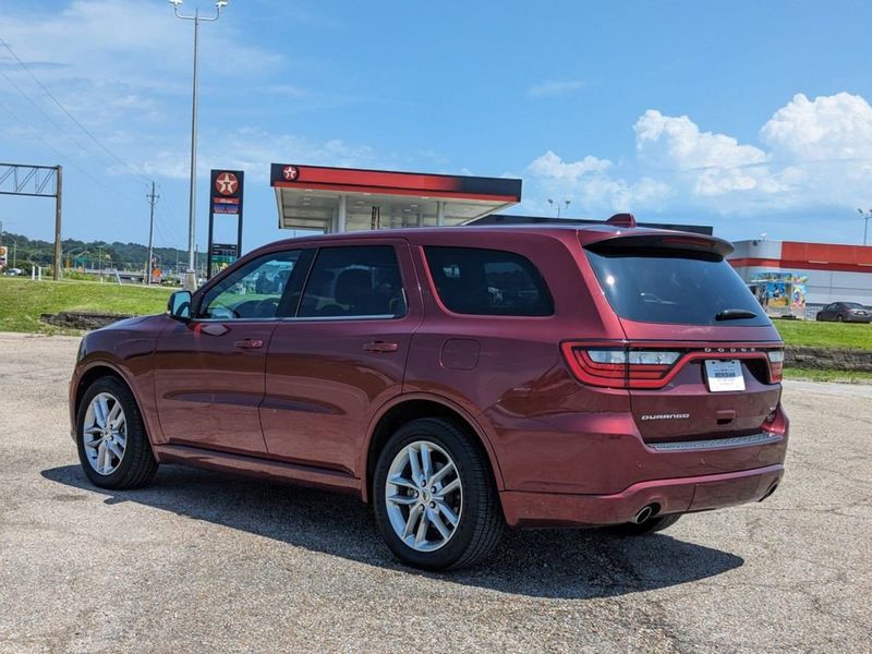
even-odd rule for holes
{"type": "Polygon", "coordinates": [[[39,322],[40,314],[61,311],[162,313],[170,292],[171,289],[160,287],[119,286],[109,281],[32,281],[0,277],[0,331],[71,334],[39,322]]]}

